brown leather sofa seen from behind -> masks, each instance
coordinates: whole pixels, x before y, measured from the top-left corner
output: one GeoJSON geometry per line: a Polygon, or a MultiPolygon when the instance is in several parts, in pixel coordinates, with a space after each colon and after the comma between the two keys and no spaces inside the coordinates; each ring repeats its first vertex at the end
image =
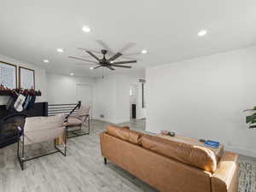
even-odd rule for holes
{"type": "Polygon", "coordinates": [[[237,155],[108,126],[101,148],[107,159],[162,192],[237,192],[237,155]]]}

